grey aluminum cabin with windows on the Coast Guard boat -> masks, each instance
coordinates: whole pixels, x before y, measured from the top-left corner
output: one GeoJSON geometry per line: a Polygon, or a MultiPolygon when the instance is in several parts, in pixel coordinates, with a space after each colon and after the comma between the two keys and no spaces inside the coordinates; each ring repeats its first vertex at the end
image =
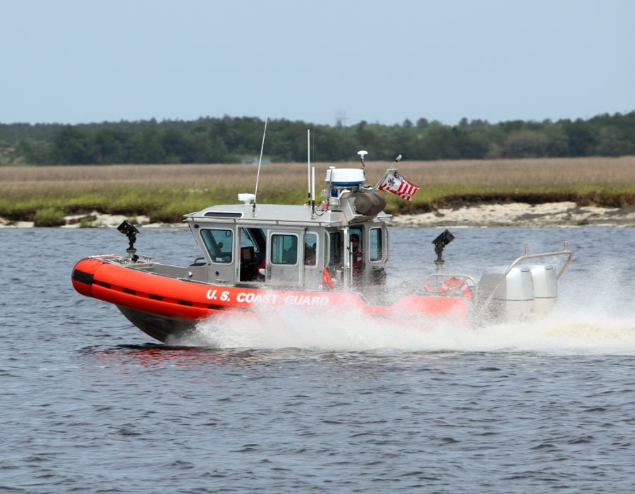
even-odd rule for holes
{"type": "Polygon", "coordinates": [[[391,215],[382,211],[385,200],[355,182],[331,183],[325,194],[328,199],[318,210],[310,205],[254,207],[253,195],[245,194],[243,204],[185,215],[203,254],[191,266],[202,270],[197,278],[229,286],[317,291],[324,289],[326,268],[334,289],[359,291],[376,302],[388,261],[386,222],[391,215]]]}

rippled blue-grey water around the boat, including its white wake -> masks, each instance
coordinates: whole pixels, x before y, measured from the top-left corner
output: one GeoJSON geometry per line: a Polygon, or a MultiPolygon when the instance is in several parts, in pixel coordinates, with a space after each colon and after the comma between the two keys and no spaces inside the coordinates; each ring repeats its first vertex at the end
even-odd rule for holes
{"type": "MultiPolygon", "coordinates": [[[[394,229],[392,290],[437,229],[394,229]]],[[[114,229],[0,230],[0,491],[630,493],[635,230],[456,229],[448,269],[576,257],[545,320],[430,332],[329,314],[202,323],[165,346],[71,287],[114,229]]],[[[188,263],[184,229],[141,253],[188,263]]]]}

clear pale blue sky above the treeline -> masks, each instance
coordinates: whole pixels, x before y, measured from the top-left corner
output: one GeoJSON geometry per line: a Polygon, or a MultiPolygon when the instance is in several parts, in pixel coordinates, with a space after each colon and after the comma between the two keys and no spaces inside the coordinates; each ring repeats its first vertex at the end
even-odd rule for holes
{"type": "Polygon", "coordinates": [[[635,110],[632,0],[0,0],[0,123],[635,110]]]}

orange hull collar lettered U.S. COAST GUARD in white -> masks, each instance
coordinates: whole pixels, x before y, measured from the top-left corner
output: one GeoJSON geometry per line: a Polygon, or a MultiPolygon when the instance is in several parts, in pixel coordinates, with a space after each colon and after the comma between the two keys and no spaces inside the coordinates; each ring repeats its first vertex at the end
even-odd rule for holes
{"type": "Polygon", "coordinates": [[[405,296],[391,306],[369,306],[358,294],[336,291],[285,291],[224,287],[188,282],[104,262],[80,260],[73,287],[85,296],[163,315],[197,320],[226,309],[274,310],[281,306],[361,311],[381,318],[452,318],[468,321],[468,303],[456,297],[405,296]]]}

